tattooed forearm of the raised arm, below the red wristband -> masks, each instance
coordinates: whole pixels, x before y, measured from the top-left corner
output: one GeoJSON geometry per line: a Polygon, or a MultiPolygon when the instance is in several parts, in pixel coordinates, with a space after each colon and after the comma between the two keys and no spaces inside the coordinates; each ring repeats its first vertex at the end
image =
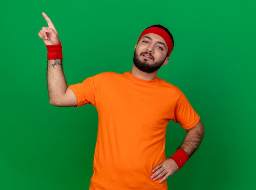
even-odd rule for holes
{"type": "Polygon", "coordinates": [[[65,94],[67,82],[63,73],[62,59],[48,60],[47,66],[47,87],[49,102],[56,105],[58,99],[65,94]]]}

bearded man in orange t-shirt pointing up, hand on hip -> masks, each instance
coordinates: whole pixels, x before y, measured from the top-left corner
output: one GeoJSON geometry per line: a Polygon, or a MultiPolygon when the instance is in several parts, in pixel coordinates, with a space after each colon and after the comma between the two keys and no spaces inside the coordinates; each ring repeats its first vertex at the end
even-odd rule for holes
{"type": "Polygon", "coordinates": [[[38,33],[48,50],[49,101],[56,106],[92,103],[99,114],[90,190],[166,190],[166,179],[195,152],[204,136],[200,117],[184,94],[157,77],[173,49],[168,29],[145,29],[135,46],[131,72],[101,73],[67,87],[62,49],[52,21],[38,33]],[[173,156],[166,158],[165,133],[170,120],[187,131],[173,156]]]}

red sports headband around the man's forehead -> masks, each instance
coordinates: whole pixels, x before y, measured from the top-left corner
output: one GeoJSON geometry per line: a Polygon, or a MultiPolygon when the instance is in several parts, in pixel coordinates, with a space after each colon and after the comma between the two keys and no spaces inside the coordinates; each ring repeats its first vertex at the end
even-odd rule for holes
{"type": "MultiPolygon", "coordinates": [[[[158,36],[161,36],[162,38],[164,38],[164,41],[166,42],[166,44],[168,46],[167,57],[169,57],[171,52],[173,51],[173,41],[171,40],[171,36],[169,36],[169,34],[162,28],[150,27],[150,28],[145,29],[141,33],[141,35],[139,36],[139,40],[142,36],[144,36],[145,34],[149,34],[149,33],[157,34],[158,36]]],[[[139,40],[138,40],[138,42],[139,42],[139,40]]]]}

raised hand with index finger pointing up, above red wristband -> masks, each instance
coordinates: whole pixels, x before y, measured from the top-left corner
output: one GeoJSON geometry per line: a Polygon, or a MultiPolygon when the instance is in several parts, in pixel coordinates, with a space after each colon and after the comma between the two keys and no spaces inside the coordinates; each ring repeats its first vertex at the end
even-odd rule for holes
{"type": "Polygon", "coordinates": [[[57,45],[60,42],[58,32],[55,29],[51,19],[45,13],[42,13],[42,15],[47,21],[48,27],[43,27],[38,32],[38,36],[43,39],[45,45],[57,45]]]}

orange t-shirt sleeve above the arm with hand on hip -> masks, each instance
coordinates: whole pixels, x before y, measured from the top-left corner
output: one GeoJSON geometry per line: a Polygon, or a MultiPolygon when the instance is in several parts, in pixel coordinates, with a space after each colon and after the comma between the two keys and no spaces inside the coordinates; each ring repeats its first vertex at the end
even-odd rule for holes
{"type": "Polygon", "coordinates": [[[195,112],[186,96],[181,92],[174,110],[173,121],[179,123],[183,129],[187,130],[194,127],[200,116],[195,112]]]}

